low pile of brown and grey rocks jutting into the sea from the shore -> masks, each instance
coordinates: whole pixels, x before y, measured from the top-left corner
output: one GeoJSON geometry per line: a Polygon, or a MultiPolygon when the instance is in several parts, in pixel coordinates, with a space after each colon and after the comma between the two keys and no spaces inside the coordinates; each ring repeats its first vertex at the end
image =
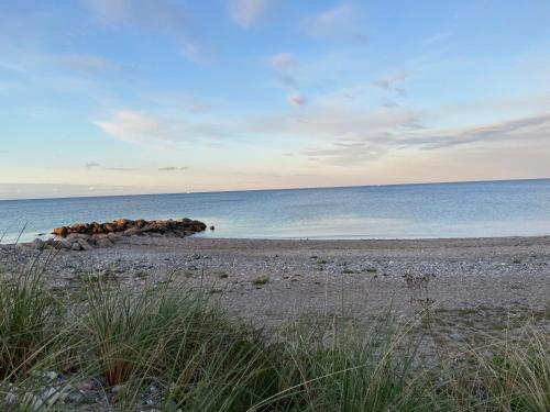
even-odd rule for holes
{"type": "Polygon", "coordinates": [[[89,250],[95,247],[110,247],[125,236],[184,237],[206,229],[205,223],[187,218],[155,221],[119,219],[107,223],[76,223],[56,227],[52,232],[56,235],[55,238],[36,238],[33,246],[38,249],[89,250]]]}

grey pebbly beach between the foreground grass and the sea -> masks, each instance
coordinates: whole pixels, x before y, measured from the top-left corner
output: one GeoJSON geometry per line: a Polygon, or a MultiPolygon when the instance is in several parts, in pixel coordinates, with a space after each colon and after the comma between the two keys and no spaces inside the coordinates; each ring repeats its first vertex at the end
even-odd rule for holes
{"type": "MultiPolygon", "coordinates": [[[[0,264],[36,250],[1,247],[0,264]]],[[[41,258],[47,254],[43,253],[41,258]]],[[[51,285],[76,288],[95,274],[128,286],[170,281],[202,288],[262,327],[312,314],[367,320],[432,310],[455,325],[496,330],[516,318],[549,320],[550,237],[275,241],[135,236],[111,248],[61,252],[51,285]]],[[[442,321],[443,324],[449,322],[442,321]]]]}

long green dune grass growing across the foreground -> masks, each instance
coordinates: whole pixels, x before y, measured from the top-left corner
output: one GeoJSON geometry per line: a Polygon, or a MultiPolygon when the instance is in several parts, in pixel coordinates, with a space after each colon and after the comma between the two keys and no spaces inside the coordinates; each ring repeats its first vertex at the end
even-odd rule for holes
{"type": "Polygon", "coordinates": [[[414,324],[392,316],[320,316],[273,339],[170,282],[135,290],[90,274],[79,288],[52,293],[36,266],[2,278],[0,410],[78,410],[63,389],[44,396],[47,370],[95,379],[120,411],[140,410],[151,387],[165,411],[550,410],[540,331],[425,363],[414,324]]]}

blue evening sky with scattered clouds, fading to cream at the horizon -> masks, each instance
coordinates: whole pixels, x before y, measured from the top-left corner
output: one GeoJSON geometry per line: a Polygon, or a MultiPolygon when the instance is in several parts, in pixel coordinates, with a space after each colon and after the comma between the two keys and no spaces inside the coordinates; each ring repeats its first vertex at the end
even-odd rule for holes
{"type": "Polygon", "coordinates": [[[0,199],[550,177],[548,0],[0,0],[0,199]]]}

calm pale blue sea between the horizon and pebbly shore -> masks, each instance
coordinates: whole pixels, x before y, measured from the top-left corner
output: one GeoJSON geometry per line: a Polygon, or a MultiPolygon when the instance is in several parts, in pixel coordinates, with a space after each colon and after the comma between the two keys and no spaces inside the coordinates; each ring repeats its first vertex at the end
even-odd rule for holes
{"type": "Polygon", "coordinates": [[[550,179],[0,201],[12,243],[76,222],[189,216],[210,237],[411,238],[550,234],[550,179]]]}

